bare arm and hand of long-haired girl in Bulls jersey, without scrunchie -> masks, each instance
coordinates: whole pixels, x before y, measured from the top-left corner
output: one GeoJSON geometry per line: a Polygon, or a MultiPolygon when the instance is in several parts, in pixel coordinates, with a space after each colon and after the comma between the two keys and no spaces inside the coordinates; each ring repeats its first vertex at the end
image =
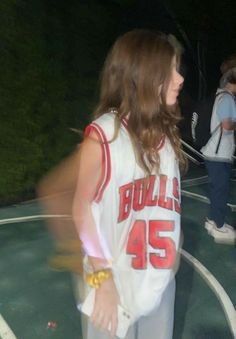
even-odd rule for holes
{"type": "MultiPolygon", "coordinates": [[[[91,204],[99,187],[102,175],[102,149],[96,135],[85,138],[80,148],[77,189],[73,203],[73,218],[83,248],[94,272],[106,269],[110,258],[104,255],[103,244],[97,233],[91,204]]],[[[117,328],[117,305],[119,296],[111,276],[96,289],[95,305],[90,320],[100,329],[111,324],[111,335],[117,328]]]]}

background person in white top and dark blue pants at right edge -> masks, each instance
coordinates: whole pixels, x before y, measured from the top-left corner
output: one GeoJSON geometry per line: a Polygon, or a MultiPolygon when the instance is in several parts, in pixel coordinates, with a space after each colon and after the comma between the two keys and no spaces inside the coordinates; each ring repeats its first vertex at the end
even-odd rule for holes
{"type": "Polygon", "coordinates": [[[235,151],[236,67],[220,80],[211,117],[212,136],[201,149],[209,176],[209,215],[205,228],[217,243],[234,244],[235,229],[226,223],[230,176],[235,151]]]}

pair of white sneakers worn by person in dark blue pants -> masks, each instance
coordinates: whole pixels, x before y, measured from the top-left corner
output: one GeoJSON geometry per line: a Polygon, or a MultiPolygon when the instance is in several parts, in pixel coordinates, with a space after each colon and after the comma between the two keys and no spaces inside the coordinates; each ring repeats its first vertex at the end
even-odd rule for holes
{"type": "Polygon", "coordinates": [[[235,229],[226,223],[221,228],[218,228],[213,220],[207,219],[205,228],[216,243],[234,244],[236,241],[235,229]]]}

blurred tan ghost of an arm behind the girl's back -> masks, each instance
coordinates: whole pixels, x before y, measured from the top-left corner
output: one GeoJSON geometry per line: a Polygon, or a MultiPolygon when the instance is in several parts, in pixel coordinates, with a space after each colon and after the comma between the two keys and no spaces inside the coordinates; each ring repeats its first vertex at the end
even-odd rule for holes
{"type": "Polygon", "coordinates": [[[48,225],[57,243],[79,240],[72,220],[72,202],[75,194],[79,148],[47,173],[39,182],[37,195],[48,225]],[[68,216],[66,219],[60,216],[68,216]],[[56,217],[58,216],[58,217],[56,217]]]}

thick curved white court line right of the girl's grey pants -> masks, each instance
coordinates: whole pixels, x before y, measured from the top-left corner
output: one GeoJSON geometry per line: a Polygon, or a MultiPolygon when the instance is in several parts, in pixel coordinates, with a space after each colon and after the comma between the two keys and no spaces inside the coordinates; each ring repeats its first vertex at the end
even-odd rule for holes
{"type": "Polygon", "coordinates": [[[200,275],[204,278],[206,283],[215,293],[216,297],[223,307],[233,338],[236,339],[236,311],[228,294],[225,292],[224,288],[218,282],[218,280],[216,280],[211,272],[208,271],[208,269],[203,266],[200,261],[198,261],[190,253],[186,252],[184,249],[181,249],[181,254],[184,259],[186,259],[191,265],[193,265],[193,267],[200,273],[200,275]]]}

